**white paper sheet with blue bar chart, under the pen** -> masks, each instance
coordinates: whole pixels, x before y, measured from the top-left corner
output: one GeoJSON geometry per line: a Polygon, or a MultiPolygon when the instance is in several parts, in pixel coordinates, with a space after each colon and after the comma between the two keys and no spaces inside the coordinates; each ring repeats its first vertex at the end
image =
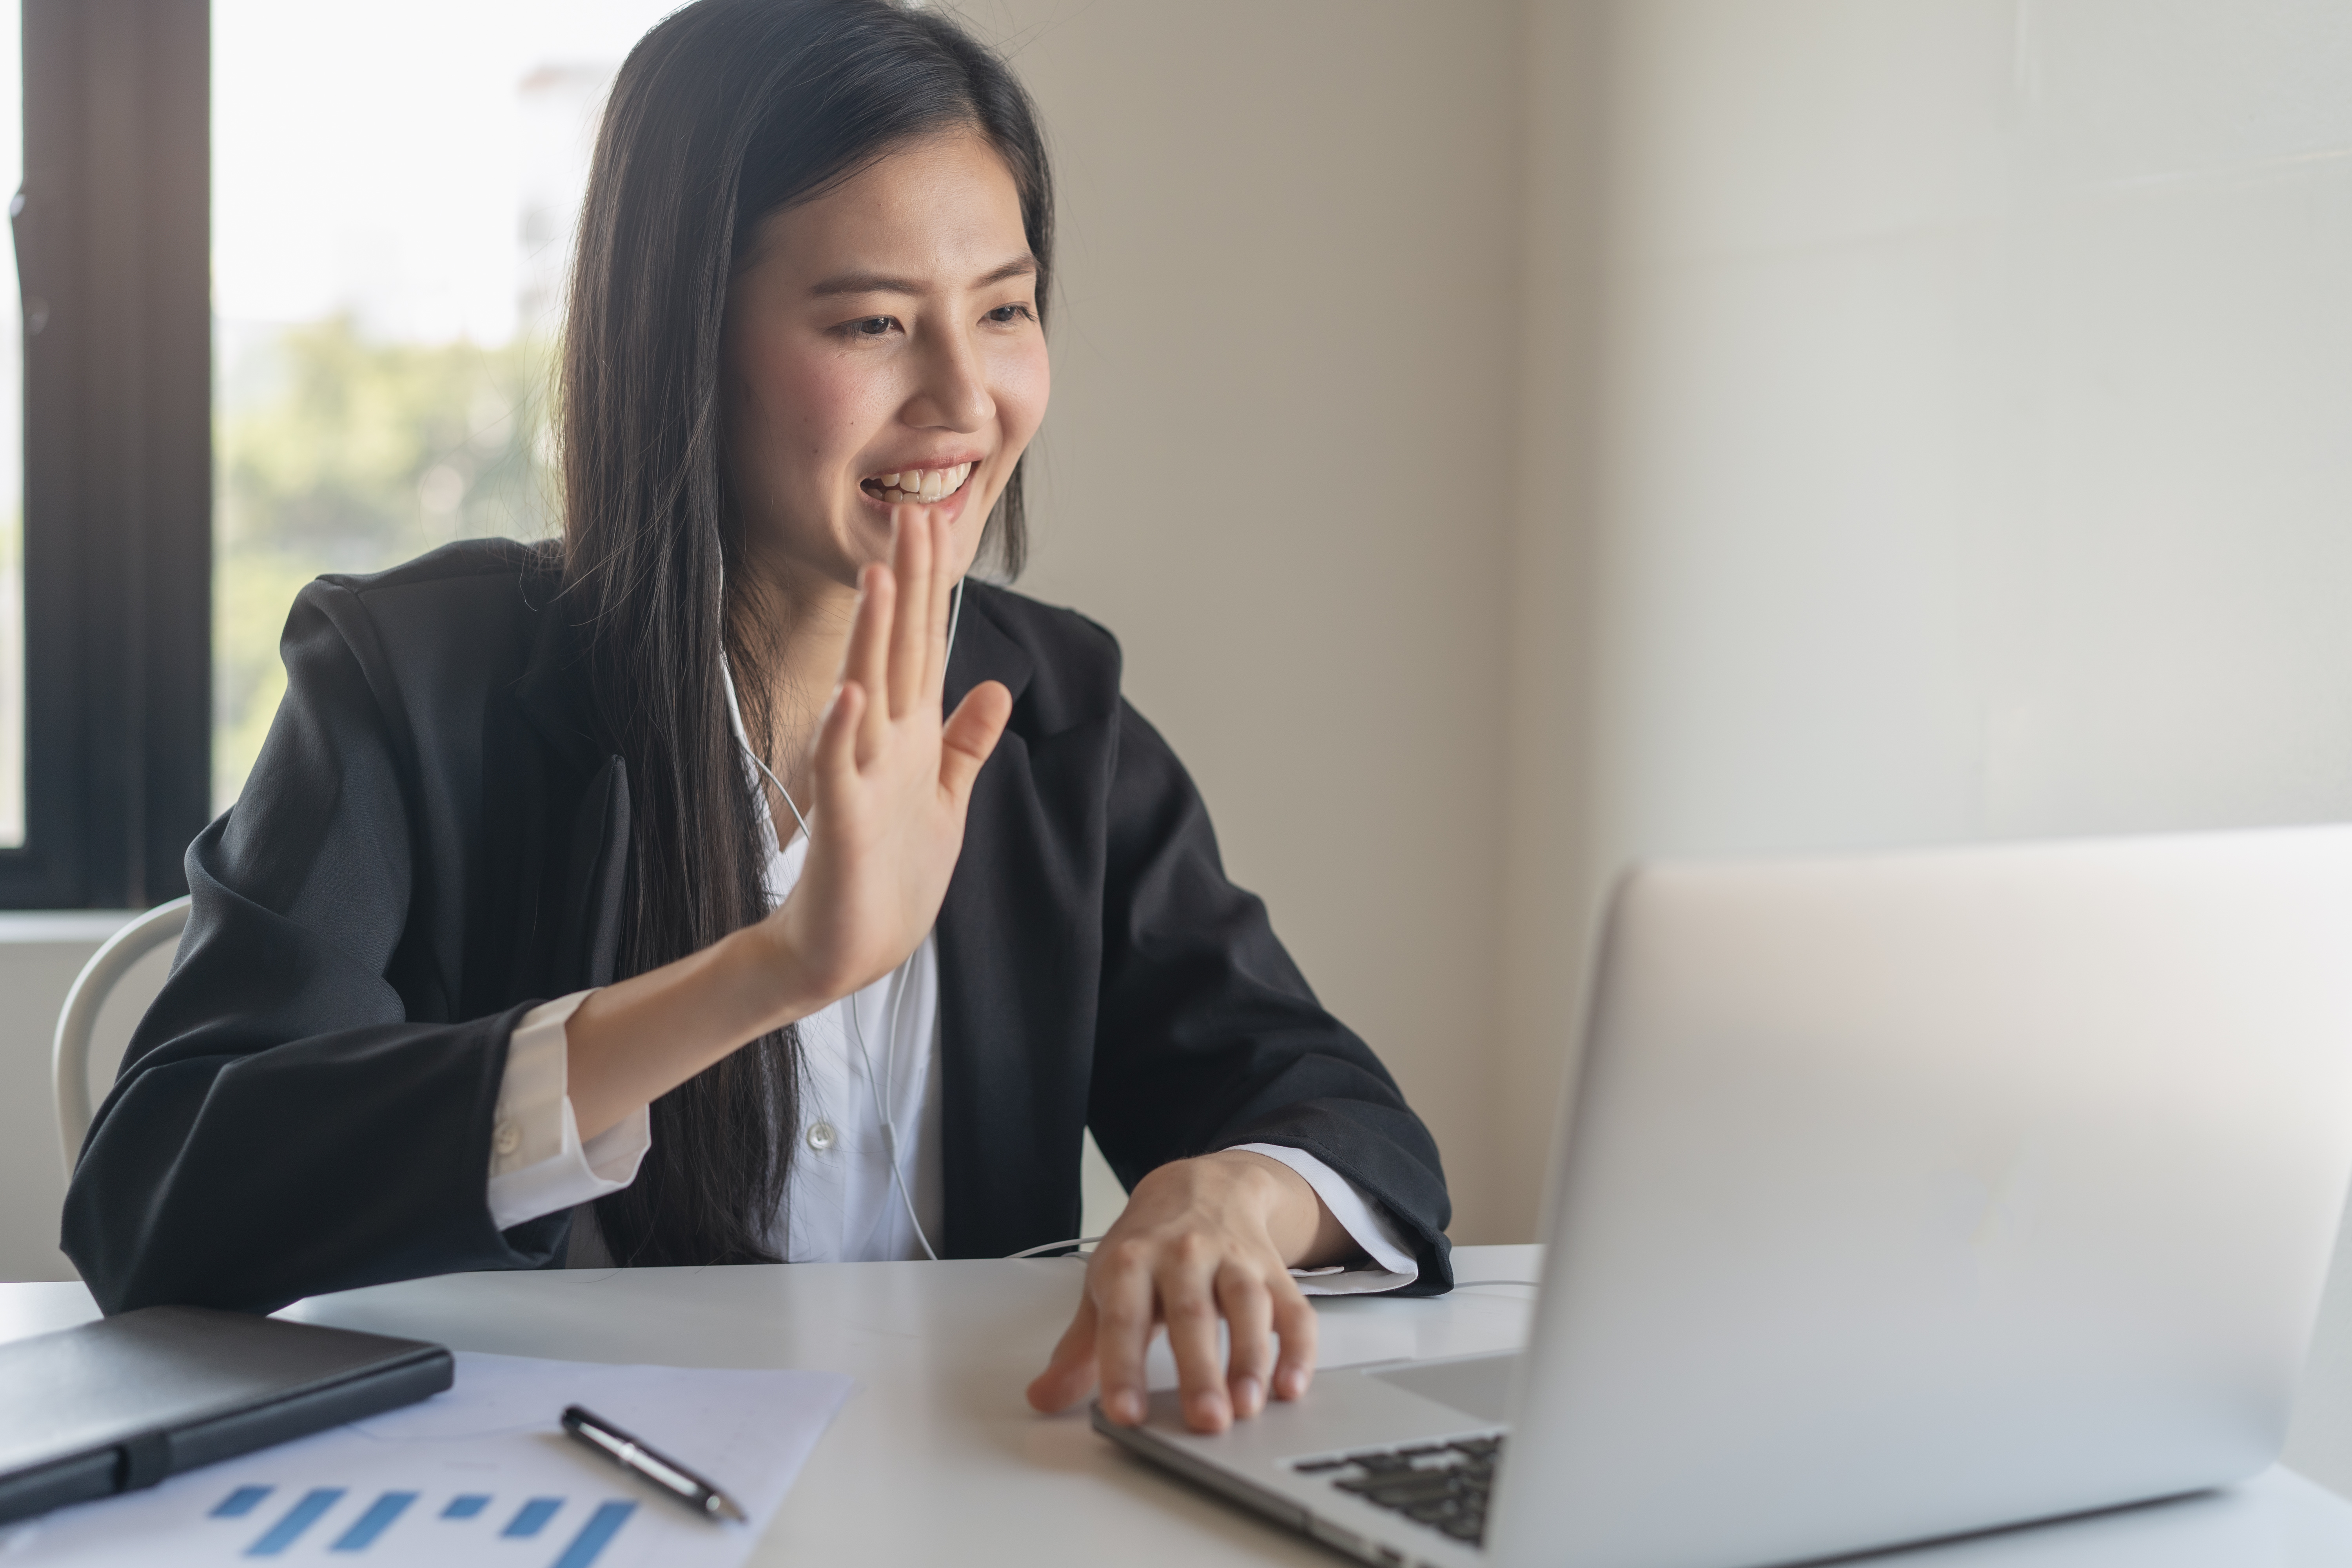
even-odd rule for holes
{"type": "Polygon", "coordinates": [[[849,1396],[840,1373],[456,1352],[456,1387],[162,1486],[0,1526],[0,1563],[734,1568],[849,1396]],[[564,1436],[579,1403],[708,1476],[694,1514],[564,1436]]]}

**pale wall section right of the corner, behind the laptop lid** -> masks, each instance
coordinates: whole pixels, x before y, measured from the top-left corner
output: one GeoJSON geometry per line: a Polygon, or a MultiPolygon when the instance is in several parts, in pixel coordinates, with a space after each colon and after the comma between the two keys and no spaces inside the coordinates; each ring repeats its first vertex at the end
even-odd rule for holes
{"type": "MultiPolygon", "coordinates": [[[[1522,491],[1505,1105],[1632,856],[2352,816],[2352,12],[1536,5],[1529,61],[1531,294],[1597,292],[1529,374],[1592,425],[1522,491]]],[[[2331,1368],[2347,1291],[2347,1483],[2331,1368]]]]}

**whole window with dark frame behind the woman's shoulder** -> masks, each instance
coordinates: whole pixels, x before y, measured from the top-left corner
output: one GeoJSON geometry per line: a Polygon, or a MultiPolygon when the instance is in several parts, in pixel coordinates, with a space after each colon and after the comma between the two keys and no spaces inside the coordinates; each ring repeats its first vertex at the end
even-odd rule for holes
{"type": "Polygon", "coordinates": [[[668,9],[0,0],[0,905],[186,891],[303,581],[553,531],[593,122],[668,9]]]}

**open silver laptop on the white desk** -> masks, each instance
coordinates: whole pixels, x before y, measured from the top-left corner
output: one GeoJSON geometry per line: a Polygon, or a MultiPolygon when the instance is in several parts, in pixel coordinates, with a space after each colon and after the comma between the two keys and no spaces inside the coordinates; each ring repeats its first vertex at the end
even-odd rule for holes
{"type": "Polygon", "coordinates": [[[1371,1563],[1759,1568],[2286,1439],[2352,1180],[2352,827],[1618,886],[1524,1352],[1096,1427],[1371,1563]]]}

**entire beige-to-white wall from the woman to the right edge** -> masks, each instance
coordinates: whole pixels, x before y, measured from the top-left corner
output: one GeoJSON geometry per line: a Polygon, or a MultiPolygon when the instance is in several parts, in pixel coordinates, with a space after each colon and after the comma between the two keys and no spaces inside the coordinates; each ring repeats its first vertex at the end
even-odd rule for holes
{"type": "Polygon", "coordinates": [[[2352,804],[2331,7],[960,9],[1063,181],[1023,585],[1458,1237],[1534,1229],[1635,853],[2352,804]]]}

